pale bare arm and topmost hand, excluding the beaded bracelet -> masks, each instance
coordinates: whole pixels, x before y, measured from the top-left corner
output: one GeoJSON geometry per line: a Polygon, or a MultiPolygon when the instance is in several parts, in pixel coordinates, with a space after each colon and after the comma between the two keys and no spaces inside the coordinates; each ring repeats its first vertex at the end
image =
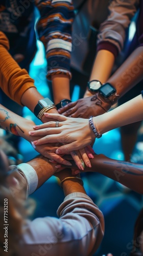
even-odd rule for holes
{"type": "MultiPolygon", "coordinates": [[[[94,135],[88,119],[68,118],[57,114],[46,114],[48,118],[60,121],[58,129],[54,128],[54,122],[34,126],[37,131],[32,131],[32,136],[45,136],[33,143],[41,145],[47,142],[63,142],[66,145],[58,148],[57,153],[67,153],[68,151],[79,149],[90,144],[96,137],[94,135]]],[[[139,95],[134,99],[118,106],[116,109],[103,115],[93,117],[93,124],[100,134],[108,132],[116,127],[143,120],[143,100],[139,95]]],[[[34,140],[34,138],[33,138],[34,140]]]]}

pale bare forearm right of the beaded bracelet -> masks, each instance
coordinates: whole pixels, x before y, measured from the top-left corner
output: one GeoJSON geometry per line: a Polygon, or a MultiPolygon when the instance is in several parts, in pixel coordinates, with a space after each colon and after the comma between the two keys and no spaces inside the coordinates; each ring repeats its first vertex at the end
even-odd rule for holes
{"type": "Polygon", "coordinates": [[[141,95],[118,106],[114,110],[93,118],[99,133],[103,134],[116,127],[143,120],[143,99],[141,95]]]}

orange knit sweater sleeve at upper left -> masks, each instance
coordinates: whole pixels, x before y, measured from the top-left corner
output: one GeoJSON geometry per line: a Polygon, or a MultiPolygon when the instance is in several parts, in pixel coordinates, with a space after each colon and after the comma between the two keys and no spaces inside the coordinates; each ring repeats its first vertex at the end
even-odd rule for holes
{"type": "Polygon", "coordinates": [[[29,88],[35,88],[34,80],[18,66],[8,50],[8,38],[0,31],[0,87],[8,97],[22,105],[21,96],[29,88]]]}

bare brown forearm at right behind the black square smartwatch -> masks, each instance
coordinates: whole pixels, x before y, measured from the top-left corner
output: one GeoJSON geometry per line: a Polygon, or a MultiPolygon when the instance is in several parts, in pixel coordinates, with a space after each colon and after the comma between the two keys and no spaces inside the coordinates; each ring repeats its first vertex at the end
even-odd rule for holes
{"type": "Polygon", "coordinates": [[[143,46],[136,48],[120,68],[108,79],[121,98],[143,78],[143,46]]]}

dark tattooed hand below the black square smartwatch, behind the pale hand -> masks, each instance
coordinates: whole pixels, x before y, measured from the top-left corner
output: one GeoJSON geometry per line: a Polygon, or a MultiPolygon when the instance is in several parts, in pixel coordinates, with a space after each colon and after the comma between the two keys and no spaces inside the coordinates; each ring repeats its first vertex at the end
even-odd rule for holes
{"type": "Polygon", "coordinates": [[[104,114],[111,108],[111,102],[96,93],[90,97],[79,99],[68,103],[59,109],[59,114],[67,117],[89,118],[90,116],[98,116],[104,114]]]}

